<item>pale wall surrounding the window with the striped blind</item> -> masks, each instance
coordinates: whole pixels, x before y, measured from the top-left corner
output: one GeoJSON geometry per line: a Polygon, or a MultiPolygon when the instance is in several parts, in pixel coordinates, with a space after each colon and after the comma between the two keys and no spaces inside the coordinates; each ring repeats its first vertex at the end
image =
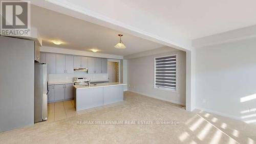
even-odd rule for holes
{"type": "Polygon", "coordinates": [[[165,52],[128,60],[128,89],[157,99],[185,105],[186,54],[183,51],[165,52]],[[154,89],[154,57],[177,54],[178,91],[154,89]]]}

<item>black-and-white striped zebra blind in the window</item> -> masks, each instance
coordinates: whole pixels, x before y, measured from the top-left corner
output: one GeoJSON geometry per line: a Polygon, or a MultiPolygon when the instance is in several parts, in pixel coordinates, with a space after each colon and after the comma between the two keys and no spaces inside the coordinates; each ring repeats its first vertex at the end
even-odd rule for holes
{"type": "Polygon", "coordinates": [[[176,56],[155,58],[155,87],[176,90],[176,56]]]}

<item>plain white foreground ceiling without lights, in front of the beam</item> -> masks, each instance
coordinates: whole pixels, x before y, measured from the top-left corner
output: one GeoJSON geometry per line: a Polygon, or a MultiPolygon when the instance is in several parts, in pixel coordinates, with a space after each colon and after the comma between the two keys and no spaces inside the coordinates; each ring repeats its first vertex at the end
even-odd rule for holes
{"type": "Polygon", "coordinates": [[[125,29],[135,28],[181,46],[189,46],[193,39],[256,25],[255,0],[47,1],[50,3],[44,0],[33,0],[32,3],[69,15],[78,12],[104,18],[106,22],[122,23],[125,29]]]}

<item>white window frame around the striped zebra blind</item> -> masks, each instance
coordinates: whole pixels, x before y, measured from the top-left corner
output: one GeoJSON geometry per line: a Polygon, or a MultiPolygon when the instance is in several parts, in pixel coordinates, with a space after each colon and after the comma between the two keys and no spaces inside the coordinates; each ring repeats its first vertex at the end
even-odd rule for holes
{"type": "Polygon", "coordinates": [[[178,54],[170,54],[170,55],[164,55],[164,56],[158,56],[158,57],[154,57],[154,60],[153,60],[153,66],[154,66],[154,80],[153,80],[153,88],[154,89],[157,89],[157,90],[166,90],[166,91],[172,91],[172,92],[175,92],[175,93],[178,93],[179,91],[179,87],[178,87],[178,54]],[[170,57],[170,56],[176,56],[176,88],[166,88],[166,87],[157,87],[156,86],[156,58],[163,58],[163,57],[170,57]]]}

